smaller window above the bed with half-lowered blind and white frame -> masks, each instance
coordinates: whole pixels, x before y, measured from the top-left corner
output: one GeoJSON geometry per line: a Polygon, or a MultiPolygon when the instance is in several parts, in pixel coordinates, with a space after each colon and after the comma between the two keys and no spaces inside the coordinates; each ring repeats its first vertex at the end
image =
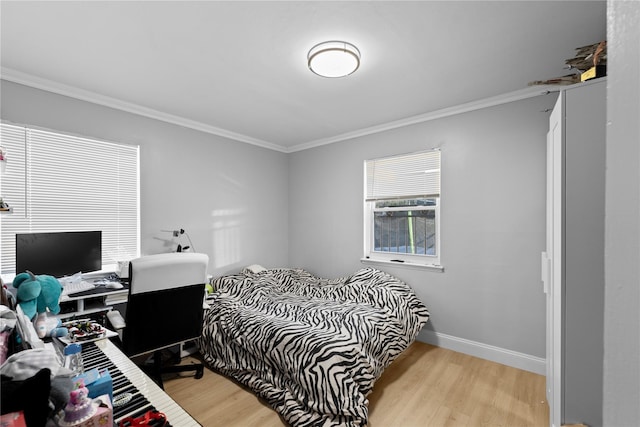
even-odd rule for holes
{"type": "Polygon", "coordinates": [[[440,151],[365,162],[365,259],[440,268],[440,151]]]}

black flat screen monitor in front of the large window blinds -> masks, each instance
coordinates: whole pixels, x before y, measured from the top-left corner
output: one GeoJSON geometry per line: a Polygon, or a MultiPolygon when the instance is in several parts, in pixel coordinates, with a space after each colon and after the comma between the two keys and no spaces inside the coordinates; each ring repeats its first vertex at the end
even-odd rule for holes
{"type": "Polygon", "coordinates": [[[16,274],[54,277],[102,269],[102,231],[16,234],[16,274]]]}

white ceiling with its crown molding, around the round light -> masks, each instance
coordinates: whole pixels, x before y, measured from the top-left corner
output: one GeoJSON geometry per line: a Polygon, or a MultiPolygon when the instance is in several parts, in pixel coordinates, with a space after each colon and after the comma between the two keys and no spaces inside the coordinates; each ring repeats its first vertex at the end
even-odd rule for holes
{"type": "Polygon", "coordinates": [[[604,1],[5,1],[2,78],[292,152],[568,74],[604,1]],[[360,69],[319,77],[346,40],[360,69]]]}

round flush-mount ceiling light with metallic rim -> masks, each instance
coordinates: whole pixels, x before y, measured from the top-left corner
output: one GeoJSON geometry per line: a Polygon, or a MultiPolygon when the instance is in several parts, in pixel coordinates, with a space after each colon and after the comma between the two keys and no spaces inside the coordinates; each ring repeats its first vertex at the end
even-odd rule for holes
{"type": "Polygon", "coordinates": [[[323,42],[315,45],[307,55],[309,69],[322,77],[344,77],[360,66],[360,51],[351,43],[323,42]]]}

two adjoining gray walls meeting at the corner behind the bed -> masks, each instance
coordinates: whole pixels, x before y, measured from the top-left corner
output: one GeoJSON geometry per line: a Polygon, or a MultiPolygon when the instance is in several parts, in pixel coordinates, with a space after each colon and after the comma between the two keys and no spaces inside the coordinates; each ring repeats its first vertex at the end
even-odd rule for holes
{"type": "Polygon", "coordinates": [[[141,146],[141,249],[184,228],[211,274],[362,267],[363,161],[439,146],[444,273],[384,268],[431,310],[419,339],[542,372],[544,161],[555,95],[283,154],[2,81],[2,119],[141,146]],[[288,210],[287,210],[288,207],[288,210]],[[513,356],[515,355],[515,359],[513,356]]]}

